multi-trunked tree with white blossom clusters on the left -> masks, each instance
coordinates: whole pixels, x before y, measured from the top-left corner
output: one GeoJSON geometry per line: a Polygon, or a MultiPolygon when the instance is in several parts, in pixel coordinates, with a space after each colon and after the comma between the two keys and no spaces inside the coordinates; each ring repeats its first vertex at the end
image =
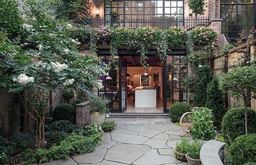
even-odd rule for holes
{"type": "Polygon", "coordinates": [[[25,110],[37,123],[37,145],[42,148],[45,115],[62,89],[69,87],[92,94],[94,86],[102,87],[97,75],[107,75],[109,69],[98,57],[78,51],[80,43],[68,37],[72,25],[46,12],[53,8],[53,2],[24,1],[21,27],[17,27],[22,29],[24,38],[16,37],[11,42],[8,35],[0,34],[0,85],[18,93],[25,110]],[[51,93],[56,96],[49,103],[51,93]]]}

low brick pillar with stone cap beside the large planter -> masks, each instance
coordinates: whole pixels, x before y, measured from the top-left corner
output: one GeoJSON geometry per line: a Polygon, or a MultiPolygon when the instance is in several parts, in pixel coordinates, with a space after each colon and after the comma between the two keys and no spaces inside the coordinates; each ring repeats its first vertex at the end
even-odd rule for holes
{"type": "Polygon", "coordinates": [[[89,103],[90,101],[86,101],[75,105],[77,118],[76,124],[79,126],[86,125],[89,123],[89,103]]]}

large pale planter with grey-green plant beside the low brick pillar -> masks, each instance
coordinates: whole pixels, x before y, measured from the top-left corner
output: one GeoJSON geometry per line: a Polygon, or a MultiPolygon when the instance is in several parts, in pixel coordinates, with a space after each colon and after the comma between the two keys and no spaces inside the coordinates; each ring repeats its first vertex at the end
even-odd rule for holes
{"type": "Polygon", "coordinates": [[[89,120],[91,123],[101,125],[105,121],[106,113],[109,113],[109,109],[106,105],[109,103],[109,99],[105,96],[94,97],[90,100],[89,107],[89,120]]]}

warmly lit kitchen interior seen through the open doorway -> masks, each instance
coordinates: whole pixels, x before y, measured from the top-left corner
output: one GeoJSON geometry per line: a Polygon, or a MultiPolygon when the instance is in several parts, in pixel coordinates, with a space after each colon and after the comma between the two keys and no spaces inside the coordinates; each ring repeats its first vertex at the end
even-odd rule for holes
{"type": "Polygon", "coordinates": [[[124,113],[163,113],[162,72],[159,66],[127,66],[127,110],[124,113]]]}

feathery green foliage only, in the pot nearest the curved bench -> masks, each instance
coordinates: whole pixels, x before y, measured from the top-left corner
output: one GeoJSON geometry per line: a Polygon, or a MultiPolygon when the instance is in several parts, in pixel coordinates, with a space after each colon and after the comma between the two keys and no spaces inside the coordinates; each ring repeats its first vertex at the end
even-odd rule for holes
{"type": "Polygon", "coordinates": [[[196,139],[193,140],[187,147],[188,156],[192,159],[200,159],[200,149],[203,145],[203,141],[196,139]]]}

